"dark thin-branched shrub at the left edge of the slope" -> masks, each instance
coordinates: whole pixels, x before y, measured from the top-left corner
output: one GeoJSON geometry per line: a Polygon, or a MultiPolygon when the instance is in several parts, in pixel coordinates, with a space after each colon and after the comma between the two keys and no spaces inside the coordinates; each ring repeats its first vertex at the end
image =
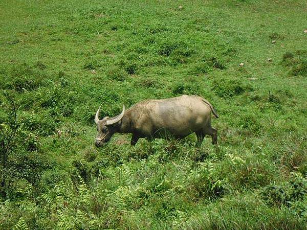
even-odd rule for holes
{"type": "Polygon", "coordinates": [[[0,197],[6,199],[20,179],[31,183],[32,192],[38,192],[49,164],[37,152],[37,136],[18,123],[15,100],[7,91],[4,99],[0,104],[6,114],[0,118],[0,197]]]}

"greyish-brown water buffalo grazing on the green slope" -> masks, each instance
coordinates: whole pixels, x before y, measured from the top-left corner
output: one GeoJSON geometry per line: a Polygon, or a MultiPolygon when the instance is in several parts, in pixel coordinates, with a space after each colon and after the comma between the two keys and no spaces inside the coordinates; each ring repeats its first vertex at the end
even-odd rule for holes
{"type": "MultiPolygon", "coordinates": [[[[101,107],[101,105],[100,105],[101,107]]],[[[217,144],[217,130],[211,127],[211,111],[216,118],[213,106],[198,96],[186,96],[145,100],[125,110],[113,118],[99,120],[98,108],[95,116],[98,135],[96,147],[107,143],[114,133],[132,133],[131,145],[141,137],[148,140],[157,138],[182,139],[192,132],[196,133],[196,146],[201,146],[205,135],[212,136],[212,144],[217,144]]]]}

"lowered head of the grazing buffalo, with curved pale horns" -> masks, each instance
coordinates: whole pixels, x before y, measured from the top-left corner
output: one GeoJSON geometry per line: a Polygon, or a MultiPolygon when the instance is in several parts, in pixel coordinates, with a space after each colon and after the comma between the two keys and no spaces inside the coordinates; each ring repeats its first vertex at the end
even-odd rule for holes
{"type": "Polygon", "coordinates": [[[104,117],[103,119],[99,120],[100,107],[98,108],[95,116],[95,123],[97,124],[97,131],[98,131],[97,137],[95,139],[96,147],[103,146],[111,139],[113,134],[117,131],[118,124],[120,123],[125,113],[125,105],[124,105],[123,111],[118,116],[114,118],[104,117]]]}

